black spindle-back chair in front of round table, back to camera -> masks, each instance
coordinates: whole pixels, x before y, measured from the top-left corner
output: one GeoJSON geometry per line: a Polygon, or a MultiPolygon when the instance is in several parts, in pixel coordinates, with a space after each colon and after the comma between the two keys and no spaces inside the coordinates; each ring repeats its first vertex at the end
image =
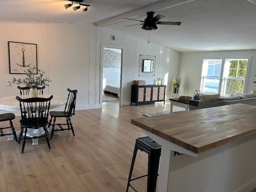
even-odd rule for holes
{"type": "Polygon", "coordinates": [[[49,98],[27,98],[22,99],[19,96],[16,96],[16,99],[20,102],[20,113],[21,113],[21,120],[20,120],[20,140],[22,140],[22,150],[21,153],[24,152],[24,147],[26,144],[27,139],[32,139],[27,136],[28,128],[37,130],[38,128],[43,128],[45,135],[42,136],[34,136],[33,138],[40,138],[46,137],[46,141],[48,144],[49,149],[50,141],[49,141],[49,134],[47,130],[48,122],[48,115],[49,115],[49,108],[50,108],[50,101],[53,96],[49,98]]]}

